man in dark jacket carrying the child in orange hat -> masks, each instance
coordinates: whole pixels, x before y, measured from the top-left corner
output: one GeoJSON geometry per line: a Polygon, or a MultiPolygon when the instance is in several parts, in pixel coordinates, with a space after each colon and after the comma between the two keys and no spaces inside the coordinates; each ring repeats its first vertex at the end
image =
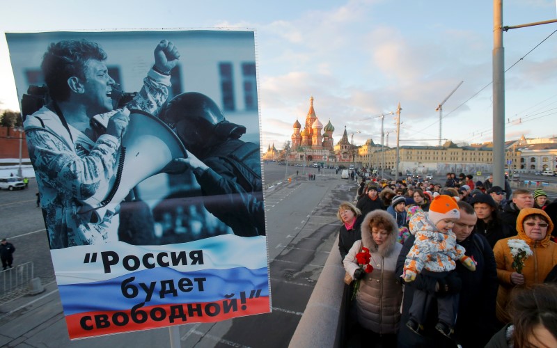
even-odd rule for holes
{"type": "MultiPolygon", "coordinates": [[[[460,262],[455,270],[457,276],[437,281],[435,274],[422,271],[416,280],[407,283],[402,300],[401,323],[408,321],[408,310],[414,296],[414,289],[421,289],[436,296],[460,293],[458,315],[452,340],[434,329],[437,322],[436,303],[430,306],[427,321],[421,335],[411,331],[405,324],[398,331],[398,347],[484,347],[496,332],[495,301],[499,283],[492,249],[487,240],[473,232],[476,214],[466,202],[459,202],[460,219],[455,223],[453,232],[457,243],[466,248],[466,255],[477,262],[476,271],[469,271],[460,262]]],[[[402,275],[406,255],[414,244],[414,235],[406,240],[398,256],[396,274],[402,275]]]]}

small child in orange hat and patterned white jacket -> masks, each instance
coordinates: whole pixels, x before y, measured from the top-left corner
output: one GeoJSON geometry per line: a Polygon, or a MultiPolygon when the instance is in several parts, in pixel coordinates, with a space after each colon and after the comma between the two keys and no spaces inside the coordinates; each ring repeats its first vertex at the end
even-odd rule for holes
{"type": "MultiPolygon", "coordinates": [[[[416,279],[417,274],[423,269],[433,272],[435,278],[444,279],[453,276],[456,268],[455,260],[471,271],[476,270],[476,264],[466,251],[457,244],[456,235],[453,233],[455,221],[460,218],[460,211],[456,200],[450,196],[439,195],[432,200],[429,212],[417,212],[409,221],[410,232],[416,237],[414,245],[406,256],[404,273],[405,282],[416,279]]],[[[438,283],[442,283],[439,282],[438,283]]],[[[409,309],[410,319],[407,322],[409,329],[420,334],[423,322],[427,317],[427,303],[431,303],[430,296],[437,301],[437,315],[439,322],[435,329],[450,337],[455,326],[458,308],[458,294],[435,296],[423,290],[414,290],[414,298],[409,309]]]]}

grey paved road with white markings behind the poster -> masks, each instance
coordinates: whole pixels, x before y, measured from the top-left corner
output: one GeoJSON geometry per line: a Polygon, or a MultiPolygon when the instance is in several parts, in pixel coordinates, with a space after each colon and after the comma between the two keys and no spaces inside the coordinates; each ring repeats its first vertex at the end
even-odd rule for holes
{"type": "MultiPolygon", "coordinates": [[[[265,175],[278,182],[284,171],[285,166],[273,164],[265,175]]],[[[288,346],[331,248],[336,250],[336,209],[356,190],[353,182],[332,173],[320,173],[315,181],[294,175],[290,184],[275,184],[265,192],[273,312],[180,326],[182,347],[288,346]]],[[[1,233],[17,247],[16,262],[32,260],[37,276],[47,284],[42,294],[0,305],[0,346],[168,347],[168,329],[70,342],[35,193],[34,180],[26,191],[0,192],[1,233]]]]}

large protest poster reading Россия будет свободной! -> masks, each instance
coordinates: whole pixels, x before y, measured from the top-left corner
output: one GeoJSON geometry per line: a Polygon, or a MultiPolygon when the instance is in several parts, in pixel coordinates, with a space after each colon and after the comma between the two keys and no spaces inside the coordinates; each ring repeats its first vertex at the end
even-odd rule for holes
{"type": "Polygon", "coordinates": [[[70,338],[270,312],[255,33],[6,33],[70,338]]]}

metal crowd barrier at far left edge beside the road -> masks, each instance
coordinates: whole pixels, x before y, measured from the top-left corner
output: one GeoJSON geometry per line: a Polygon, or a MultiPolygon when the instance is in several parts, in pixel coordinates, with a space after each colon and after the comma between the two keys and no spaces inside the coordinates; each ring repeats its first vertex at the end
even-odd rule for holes
{"type": "Polygon", "coordinates": [[[30,290],[33,274],[33,262],[18,264],[13,268],[1,271],[0,302],[27,294],[30,290]]]}

